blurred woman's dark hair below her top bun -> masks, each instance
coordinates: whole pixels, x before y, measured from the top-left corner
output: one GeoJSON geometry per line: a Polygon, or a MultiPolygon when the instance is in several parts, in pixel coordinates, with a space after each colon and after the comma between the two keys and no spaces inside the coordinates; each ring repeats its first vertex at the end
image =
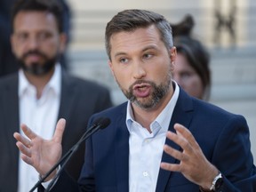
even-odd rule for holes
{"type": "Polygon", "coordinates": [[[174,46],[188,60],[188,64],[196,70],[204,86],[204,97],[208,100],[211,88],[210,53],[196,38],[190,36],[174,37],[174,46]]]}

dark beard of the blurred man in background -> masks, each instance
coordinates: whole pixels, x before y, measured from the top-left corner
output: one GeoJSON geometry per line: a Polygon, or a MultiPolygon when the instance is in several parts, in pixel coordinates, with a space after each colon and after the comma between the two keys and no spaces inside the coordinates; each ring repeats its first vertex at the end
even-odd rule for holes
{"type": "Polygon", "coordinates": [[[43,52],[29,51],[24,53],[22,57],[18,58],[17,60],[18,60],[19,66],[29,74],[32,74],[34,76],[44,76],[49,71],[51,71],[52,68],[54,68],[55,63],[58,60],[58,55],[49,59],[43,52]],[[27,66],[25,64],[25,59],[26,57],[28,57],[29,54],[35,54],[35,55],[39,55],[40,57],[43,57],[45,60],[44,63],[42,64],[42,63],[34,62],[34,63],[31,63],[30,66],[27,66]]]}

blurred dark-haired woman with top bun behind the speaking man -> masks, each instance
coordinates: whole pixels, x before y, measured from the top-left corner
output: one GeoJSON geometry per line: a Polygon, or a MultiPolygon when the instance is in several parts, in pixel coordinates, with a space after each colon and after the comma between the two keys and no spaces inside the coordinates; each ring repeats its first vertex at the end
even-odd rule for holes
{"type": "Polygon", "coordinates": [[[204,45],[192,37],[195,21],[186,15],[177,24],[170,24],[177,48],[173,79],[200,100],[209,100],[211,88],[210,54],[204,45]]]}

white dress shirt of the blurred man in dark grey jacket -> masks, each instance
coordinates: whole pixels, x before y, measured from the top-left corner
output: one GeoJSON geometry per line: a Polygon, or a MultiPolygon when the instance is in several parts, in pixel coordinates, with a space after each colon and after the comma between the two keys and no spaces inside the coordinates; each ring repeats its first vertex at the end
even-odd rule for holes
{"type": "MultiPolygon", "coordinates": [[[[55,130],[60,108],[60,87],[60,64],[55,66],[54,74],[39,99],[36,98],[36,87],[28,82],[22,70],[19,71],[20,124],[27,124],[46,140],[52,138],[55,130]]],[[[20,158],[18,192],[28,192],[37,180],[38,172],[20,158]]]]}

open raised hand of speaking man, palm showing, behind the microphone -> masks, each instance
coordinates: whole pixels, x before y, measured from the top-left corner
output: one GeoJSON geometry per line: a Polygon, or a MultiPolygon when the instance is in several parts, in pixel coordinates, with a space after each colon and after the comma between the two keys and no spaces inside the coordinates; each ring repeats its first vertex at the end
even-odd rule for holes
{"type": "MultiPolygon", "coordinates": [[[[21,152],[21,159],[32,165],[40,175],[48,172],[60,159],[62,153],[61,140],[65,124],[65,119],[58,121],[52,140],[44,140],[35,132],[32,132],[26,124],[21,124],[21,129],[28,138],[22,136],[19,132],[13,134],[13,137],[17,140],[16,145],[21,152]]],[[[52,179],[54,174],[55,172],[46,180],[52,179]]]]}

